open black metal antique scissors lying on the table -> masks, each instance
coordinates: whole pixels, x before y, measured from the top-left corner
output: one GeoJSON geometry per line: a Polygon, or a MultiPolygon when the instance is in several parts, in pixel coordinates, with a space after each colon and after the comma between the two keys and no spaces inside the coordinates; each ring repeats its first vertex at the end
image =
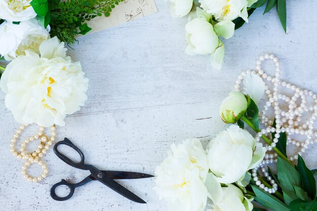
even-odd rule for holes
{"type": "Polygon", "coordinates": [[[91,175],[86,177],[84,180],[82,180],[79,183],[68,183],[65,180],[62,180],[59,183],[56,183],[51,188],[51,196],[53,199],[57,201],[64,201],[69,199],[75,191],[75,188],[83,186],[93,180],[98,180],[102,184],[108,186],[115,192],[123,195],[124,197],[130,199],[131,201],[137,202],[137,203],[146,203],[144,200],[142,200],[140,197],[123,187],[122,185],[118,184],[114,180],[120,180],[120,179],[142,179],[142,178],[150,178],[153,177],[152,175],[148,174],[142,174],[142,173],[136,173],[136,172],[119,172],[119,171],[100,171],[98,168],[96,168],[93,165],[85,164],[85,156],[84,153],[76,147],[71,141],[69,141],[67,138],[64,139],[64,141],[57,142],[54,146],[54,152],[55,154],[64,162],[66,162],[68,165],[71,165],[75,168],[80,168],[82,170],[89,170],[91,175]],[[73,148],[76,152],[78,152],[81,156],[80,162],[74,162],[70,158],[66,157],[64,154],[58,151],[57,147],[59,145],[67,145],[71,148],[73,148]],[[55,189],[60,185],[66,185],[70,189],[70,193],[65,197],[59,197],[55,193],[55,189]]]}

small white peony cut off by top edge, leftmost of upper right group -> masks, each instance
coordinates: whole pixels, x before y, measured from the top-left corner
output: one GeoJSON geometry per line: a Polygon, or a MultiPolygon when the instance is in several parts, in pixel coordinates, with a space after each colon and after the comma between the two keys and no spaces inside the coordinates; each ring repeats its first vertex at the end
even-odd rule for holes
{"type": "Polygon", "coordinates": [[[170,0],[171,15],[174,18],[180,18],[187,15],[193,4],[193,0],[170,0]]]}

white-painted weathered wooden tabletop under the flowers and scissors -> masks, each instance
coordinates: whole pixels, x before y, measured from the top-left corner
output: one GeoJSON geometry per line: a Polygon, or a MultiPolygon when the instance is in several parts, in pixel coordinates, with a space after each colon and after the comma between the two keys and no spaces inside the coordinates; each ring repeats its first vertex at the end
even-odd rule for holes
{"type": "MultiPolygon", "coordinates": [[[[57,128],[57,140],[68,137],[97,167],[153,174],[172,143],[214,137],[227,126],[218,115],[222,99],[237,75],[254,68],[264,52],[280,57],[283,79],[317,91],[316,3],[288,1],[286,34],[275,10],[265,16],[264,8],[256,10],[249,24],[224,41],[221,71],[211,69],[209,56],[184,53],[187,19],[171,18],[168,2],[156,4],[157,14],[82,37],[68,51],[90,79],[88,101],[57,128]]],[[[9,151],[18,124],[4,98],[1,92],[0,210],[167,210],[152,190],[154,179],[124,182],[147,204],[133,203],[98,182],[77,189],[68,201],[54,201],[53,184],[66,178],[78,182],[89,173],[62,162],[52,148],[44,158],[48,178],[26,182],[23,162],[9,151]]],[[[311,145],[303,155],[309,167],[317,167],[315,149],[311,145]]]]}

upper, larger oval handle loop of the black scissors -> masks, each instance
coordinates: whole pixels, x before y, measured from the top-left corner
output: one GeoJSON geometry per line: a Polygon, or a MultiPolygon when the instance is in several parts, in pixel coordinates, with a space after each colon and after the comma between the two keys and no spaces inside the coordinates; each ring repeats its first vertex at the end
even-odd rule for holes
{"type": "Polygon", "coordinates": [[[76,147],[73,143],[71,143],[71,141],[69,141],[67,138],[64,139],[64,141],[59,141],[55,144],[54,146],[54,152],[55,154],[64,162],[66,162],[68,165],[71,165],[75,168],[80,168],[82,170],[89,170],[91,165],[86,165],[85,164],[85,156],[84,153],[82,152],[82,150],[80,150],[78,147],[76,147]],[[59,145],[67,145],[71,148],[73,148],[76,152],[78,152],[78,154],[80,154],[81,156],[81,161],[80,162],[74,162],[72,161],[70,158],[66,157],[64,154],[62,154],[61,152],[58,151],[57,147],[59,145]]]}

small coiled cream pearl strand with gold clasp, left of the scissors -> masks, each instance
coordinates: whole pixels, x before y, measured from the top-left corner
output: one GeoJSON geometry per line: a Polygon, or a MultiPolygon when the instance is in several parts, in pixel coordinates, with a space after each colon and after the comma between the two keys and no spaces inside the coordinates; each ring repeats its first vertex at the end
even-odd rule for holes
{"type": "Polygon", "coordinates": [[[41,181],[42,179],[44,179],[48,174],[48,168],[47,168],[46,164],[40,160],[40,158],[43,157],[43,155],[47,152],[47,150],[50,148],[53,141],[55,140],[56,128],[55,128],[55,125],[53,125],[51,127],[52,137],[49,139],[48,136],[46,136],[44,134],[45,128],[42,126],[39,127],[39,132],[35,136],[31,136],[30,138],[25,139],[25,141],[21,144],[21,149],[20,149],[20,153],[19,153],[15,150],[15,143],[16,143],[17,139],[20,137],[20,134],[22,133],[22,131],[25,129],[26,126],[27,125],[21,125],[20,128],[16,131],[16,134],[14,135],[14,137],[11,140],[10,151],[18,158],[26,160],[26,162],[22,166],[22,174],[23,174],[24,178],[30,182],[38,182],[38,181],[41,181]],[[34,152],[27,154],[25,152],[25,146],[29,142],[34,141],[34,140],[40,140],[41,143],[39,143],[39,145],[37,146],[37,149],[34,152]],[[41,176],[32,178],[29,175],[27,175],[26,168],[32,163],[37,163],[38,165],[40,165],[43,168],[43,174],[41,176]]]}

